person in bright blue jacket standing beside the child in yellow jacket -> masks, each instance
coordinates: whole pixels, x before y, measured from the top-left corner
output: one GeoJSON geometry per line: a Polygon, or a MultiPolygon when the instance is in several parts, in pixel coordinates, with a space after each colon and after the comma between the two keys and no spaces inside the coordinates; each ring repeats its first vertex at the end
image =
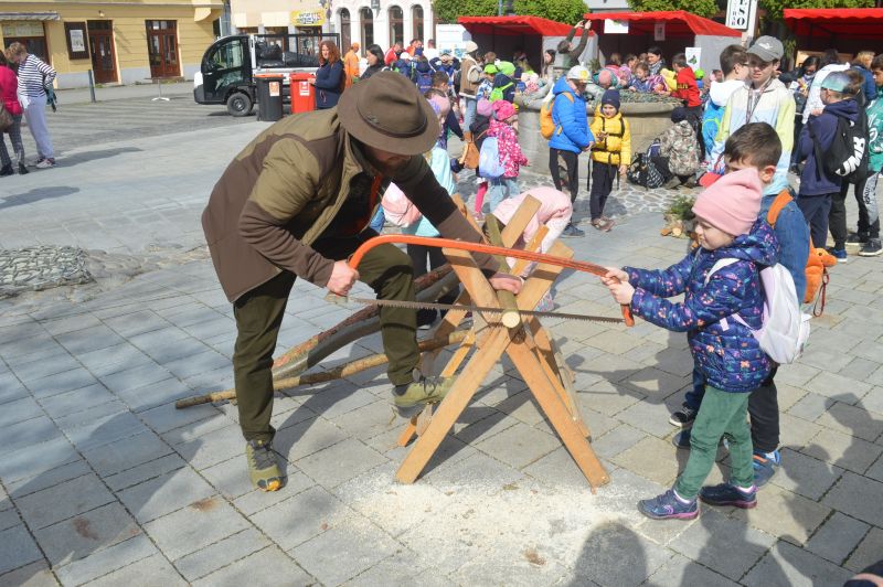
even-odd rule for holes
{"type": "MultiPolygon", "coordinates": [[[[588,70],[582,65],[571,67],[564,77],[555,82],[552,120],[555,130],[549,139],[549,172],[555,189],[576,202],[579,191],[579,153],[588,152],[595,138],[588,129],[586,102],[583,95],[591,78],[588,70]]],[[[585,233],[567,224],[562,236],[585,236],[585,233]]]]}

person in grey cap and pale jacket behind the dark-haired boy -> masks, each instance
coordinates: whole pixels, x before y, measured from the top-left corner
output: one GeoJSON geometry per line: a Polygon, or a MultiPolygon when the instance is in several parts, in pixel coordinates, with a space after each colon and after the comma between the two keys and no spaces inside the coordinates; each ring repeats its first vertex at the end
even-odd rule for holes
{"type": "MultiPolygon", "coordinates": [[[[776,78],[785,49],[775,36],[760,36],[748,49],[747,84],[736,89],[724,109],[721,130],[714,139],[714,150],[709,158],[709,171],[723,172],[724,143],[730,136],[748,122],[766,122],[776,129],[781,141],[781,157],[776,174],[764,186],[764,194],[778,194],[788,189],[788,164],[794,148],[794,96],[776,78]]],[[[815,85],[815,84],[813,84],[815,85]]]]}

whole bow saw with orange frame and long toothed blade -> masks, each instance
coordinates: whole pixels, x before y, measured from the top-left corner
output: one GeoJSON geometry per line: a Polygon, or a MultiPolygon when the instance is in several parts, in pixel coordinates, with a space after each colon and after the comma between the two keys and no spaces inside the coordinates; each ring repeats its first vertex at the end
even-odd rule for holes
{"type": "MultiPolygon", "coordinates": [[[[525,259],[535,263],[545,263],[549,265],[555,265],[557,267],[564,267],[567,269],[574,269],[577,271],[588,273],[593,275],[597,275],[604,277],[607,275],[607,269],[602,267],[600,265],[595,265],[594,263],[587,263],[583,260],[573,260],[564,257],[556,257],[555,255],[546,255],[544,253],[534,253],[531,250],[521,250],[517,248],[507,248],[507,247],[498,247],[493,245],[486,245],[483,243],[468,243],[465,241],[454,241],[450,238],[435,238],[435,237],[426,237],[426,236],[414,236],[414,235],[406,235],[406,234],[386,234],[382,236],[376,236],[363,243],[353,255],[350,257],[348,264],[351,268],[358,269],[359,263],[362,260],[362,257],[374,248],[375,246],[383,245],[383,244],[412,244],[412,245],[422,245],[428,247],[438,247],[438,248],[454,248],[458,250],[467,250],[470,253],[485,253],[487,255],[499,255],[502,257],[514,257],[517,259],[525,259]]],[[[377,299],[368,299],[368,298],[349,298],[349,300],[358,302],[358,303],[368,303],[368,305],[376,305],[376,306],[390,306],[395,308],[413,308],[416,310],[419,309],[430,309],[430,310],[466,310],[471,312],[480,312],[480,313],[503,313],[506,309],[503,308],[491,308],[491,307],[480,307],[480,306],[458,306],[458,305],[450,305],[450,303],[430,303],[424,301],[403,301],[403,300],[377,300],[377,299]]],[[[564,313],[564,312],[543,312],[543,311],[535,311],[535,310],[518,310],[519,313],[524,316],[547,316],[553,318],[561,318],[565,320],[589,320],[596,322],[614,322],[620,323],[625,322],[626,325],[632,327],[635,325],[635,319],[631,316],[631,308],[624,303],[621,305],[623,309],[623,318],[610,318],[607,316],[586,316],[586,314],[576,314],[576,313],[564,313]]]]}

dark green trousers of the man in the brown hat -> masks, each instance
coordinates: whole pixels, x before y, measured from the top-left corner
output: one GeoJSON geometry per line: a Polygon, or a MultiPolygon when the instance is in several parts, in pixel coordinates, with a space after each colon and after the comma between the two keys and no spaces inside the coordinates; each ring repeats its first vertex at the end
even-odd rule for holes
{"type": "MultiPolygon", "coordinates": [[[[326,258],[341,260],[366,237],[328,238],[313,248],[326,258]]],[[[377,298],[414,299],[411,259],[395,246],[387,244],[371,249],[358,270],[359,279],[372,287],[377,298]]],[[[295,275],[283,271],[233,303],[237,330],[233,374],[240,426],[246,440],[272,441],[276,431],[269,424],[273,415],[273,352],[294,284],[295,275]]],[[[393,385],[411,383],[412,372],[419,361],[416,311],[381,308],[380,324],[383,349],[389,357],[390,381],[393,385]]]]}

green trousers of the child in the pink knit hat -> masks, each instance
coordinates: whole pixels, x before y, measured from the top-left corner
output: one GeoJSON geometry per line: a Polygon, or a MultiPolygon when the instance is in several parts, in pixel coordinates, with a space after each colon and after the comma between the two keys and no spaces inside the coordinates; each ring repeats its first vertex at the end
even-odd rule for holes
{"type": "Polygon", "coordinates": [[[730,441],[730,482],[742,488],[754,484],[752,431],[747,421],[749,396],[748,393],[705,387],[705,396],[690,431],[690,459],[674,483],[681,498],[692,500],[699,494],[714,466],[722,436],[730,441]]]}

